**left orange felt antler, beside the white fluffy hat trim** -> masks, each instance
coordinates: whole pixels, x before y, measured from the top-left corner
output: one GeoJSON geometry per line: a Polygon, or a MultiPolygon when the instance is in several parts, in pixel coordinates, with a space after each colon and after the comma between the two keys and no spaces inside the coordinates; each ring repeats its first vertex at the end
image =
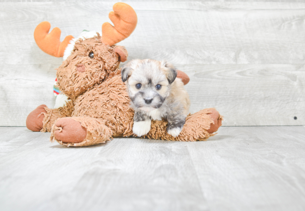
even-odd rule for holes
{"type": "Polygon", "coordinates": [[[38,47],[45,53],[55,57],[63,57],[70,40],[74,37],[72,35],[66,36],[66,38],[60,42],[61,31],[58,27],[55,27],[50,33],[49,30],[51,24],[48,21],[41,22],[36,26],[34,31],[34,39],[38,47]],[[49,34],[48,34],[49,33],[49,34]]]}

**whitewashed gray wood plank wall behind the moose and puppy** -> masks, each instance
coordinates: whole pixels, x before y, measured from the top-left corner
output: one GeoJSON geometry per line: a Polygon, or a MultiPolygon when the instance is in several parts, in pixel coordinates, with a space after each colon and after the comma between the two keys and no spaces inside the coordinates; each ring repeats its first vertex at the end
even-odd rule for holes
{"type": "MultiPolygon", "coordinates": [[[[55,68],[33,32],[41,21],[77,37],[101,30],[115,1],[0,2],[0,126],[54,106],[55,68]]],[[[130,59],[167,59],[190,76],[191,113],[215,107],[224,126],[305,124],[304,1],[128,1],[138,15],[130,59]],[[297,120],[294,119],[297,117],[297,120]]]]}

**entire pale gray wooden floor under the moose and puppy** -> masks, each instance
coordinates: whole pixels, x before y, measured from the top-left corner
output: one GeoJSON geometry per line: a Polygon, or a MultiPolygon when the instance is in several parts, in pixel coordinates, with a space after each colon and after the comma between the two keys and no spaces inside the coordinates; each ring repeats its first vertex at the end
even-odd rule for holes
{"type": "Polygon", "coordinates": [[[91,147],[0,127],[0,210],[304,210],[305,127],[221,127],[204,142],[91,147]]]}

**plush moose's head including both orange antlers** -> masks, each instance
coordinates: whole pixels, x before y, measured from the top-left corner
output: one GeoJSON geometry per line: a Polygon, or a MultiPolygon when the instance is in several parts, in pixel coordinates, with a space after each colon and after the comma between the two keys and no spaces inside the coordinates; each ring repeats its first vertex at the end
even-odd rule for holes
{"type": "Polygon", "coordinates": [[[40,23],[34,31],[40,49],[56,57],[69,55],[57,69],[56,75],[60,91],[71,99],[103,82],[117,70],[120,61],[127,60],[125,47],[115,44],[133,32],[137,25],[137,15],[125,3],[116,3],[113,10],[109,13],[109,18],[114,26],[104,23],[102,36],[96,33],[96,36],[90,38],[74,39],[69,35],[60,42],[59,28],[55,27],[49,33],[50,24],[46,21],[40,23]]]}

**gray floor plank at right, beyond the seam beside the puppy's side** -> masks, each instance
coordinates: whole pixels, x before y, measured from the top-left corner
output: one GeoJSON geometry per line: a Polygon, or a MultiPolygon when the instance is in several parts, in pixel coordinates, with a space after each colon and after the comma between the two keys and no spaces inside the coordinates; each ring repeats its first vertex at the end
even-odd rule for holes
{"type": "Polygon", "coordinates": [[[304,126],[223,127],[207,143],[188,148],[211,210],[305,209],[304,126]]]}

